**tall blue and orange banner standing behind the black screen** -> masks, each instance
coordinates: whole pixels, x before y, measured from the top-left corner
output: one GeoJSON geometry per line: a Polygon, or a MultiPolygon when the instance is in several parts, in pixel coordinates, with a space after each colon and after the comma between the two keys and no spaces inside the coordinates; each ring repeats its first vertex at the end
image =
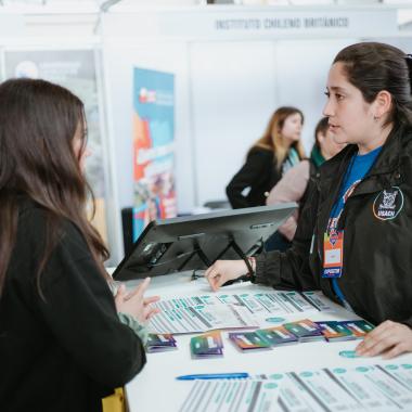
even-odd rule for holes
{"type": "Polygon", "coordinates": [[[155,219],[176,217],[175,76],[133,69],[133,240],[155,219]]]}

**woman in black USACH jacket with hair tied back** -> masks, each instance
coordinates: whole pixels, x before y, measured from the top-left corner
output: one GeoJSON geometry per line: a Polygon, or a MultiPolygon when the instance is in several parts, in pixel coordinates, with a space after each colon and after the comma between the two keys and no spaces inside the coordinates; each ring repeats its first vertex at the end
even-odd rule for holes
{"type": "MultiPolygon", "coordinates": [[[[412,350],[412,55],[378,42],[343,49],[329,73],[324,115],[337,143],[305,203],[286,253],[250,257],[254,282],[322,289],[374,324],[363,356],[412,350]]],[[[243,260],[206,271],[214,291],[243,260]]]]}

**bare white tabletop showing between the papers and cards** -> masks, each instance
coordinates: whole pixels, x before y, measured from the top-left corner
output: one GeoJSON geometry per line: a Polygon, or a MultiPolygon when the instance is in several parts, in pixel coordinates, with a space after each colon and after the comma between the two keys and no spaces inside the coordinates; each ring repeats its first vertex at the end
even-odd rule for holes
{"type": "MultiPolygon", "coordinates": [[[[136,282],[129,282],[133,285],[136,282]]],[[[253,292],[261,289],[261,285],[248,282],[234,284],[223,289],[224,293],[253,292]]],[[[268,287],[268,291],[273,291],[268,287]]],[[[211,294],[204,279],[190,281],[190,274],[182,272],[153,278],[147,292],[150,295],[160,295],[162,298],[188,295],[211,294]]],[[[313,321],[353,320],[358,319],[351,312],[334,305],[335,312],[310,312],[288,316],[287,321],[309,318],[313,321]]],[[[276,326],[267,323],[266,327],[276,326]]],[[[217,373],[217,372],[248,372],[249,374],[273,374],[278,372],[302,371],[323,366],[349,366],[385,363],[381,357],[345,359],[339,356],[342,350],[353,350],[359,340],[342,343],[305,343],[279,347],[269,351],[241,353],[222,332],[224,356],[220,359],[191,359],[190,338],[194,335],[175,335],[179,349],[169,352],[147,353],[147,363],[143,371],[126,385],[126,394],[130,412],[179,411],[188,396],[193,382],[177,381],[176,376],[217,373]]],[[[404,355],[397,361],[412,362],[412,355],[404,355]]],[[[386,361],[389,362],[389,361],[386,361]]]]}

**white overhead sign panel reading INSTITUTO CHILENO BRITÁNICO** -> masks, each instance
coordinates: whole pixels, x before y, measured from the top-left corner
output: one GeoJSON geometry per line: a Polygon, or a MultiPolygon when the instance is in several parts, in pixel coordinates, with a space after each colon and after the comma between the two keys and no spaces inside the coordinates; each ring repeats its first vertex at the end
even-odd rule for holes
{"type": "MultiPolygon", "coordinates": [[[[217,8],[219,9],[219,8],[217,8]]],[[[105,29],[112,36],[191,38],[196,40],[273,39],[282,37],[357,37],[386,36],[398,31],[397,10],[390,8],[224,8],[215,11],[106,13],[105,29]],[[119,18],[121,15],[121,18],[119,18]]]]}

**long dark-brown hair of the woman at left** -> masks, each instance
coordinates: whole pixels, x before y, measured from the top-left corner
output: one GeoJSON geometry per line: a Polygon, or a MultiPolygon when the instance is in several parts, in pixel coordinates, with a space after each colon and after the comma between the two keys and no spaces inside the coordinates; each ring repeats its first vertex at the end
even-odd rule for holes
{"type": "Polygon", "coordinates": [[[0,85],[0,295],[16,242],[18,197],[38,204],[47,216],[40,275],[56,246],[65,220],[82,233],[105,275],[108,257],[86,214],[92,192],[80,169],[86,149],[86,119],[82,102],[63,87],[44,80],[11,79],[0,85]],[[73,139],[82,128],[82,151],[76,155],[73,139]]]}

